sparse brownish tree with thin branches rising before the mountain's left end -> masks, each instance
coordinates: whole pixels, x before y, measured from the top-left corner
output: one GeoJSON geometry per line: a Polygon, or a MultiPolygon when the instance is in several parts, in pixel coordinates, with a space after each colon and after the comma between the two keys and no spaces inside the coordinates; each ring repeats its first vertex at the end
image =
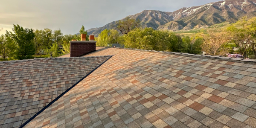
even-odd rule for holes
{"type": "Polygon", "coordinates": [[[128,34],[131,30],[140,27],[140,20],[125,17],[125,19],[117,21],[117,23],[111,27],[120,31],[122,34],[128,34]]]}

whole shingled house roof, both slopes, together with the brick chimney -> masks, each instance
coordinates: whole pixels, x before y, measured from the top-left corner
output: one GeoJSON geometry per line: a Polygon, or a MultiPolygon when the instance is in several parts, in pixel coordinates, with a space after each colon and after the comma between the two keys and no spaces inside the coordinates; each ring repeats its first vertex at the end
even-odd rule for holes
{"type": "Polygon", "coordinates": [[[256,128],[256,60],[89,43],[0,62],[0,128],[256,128]]]}

